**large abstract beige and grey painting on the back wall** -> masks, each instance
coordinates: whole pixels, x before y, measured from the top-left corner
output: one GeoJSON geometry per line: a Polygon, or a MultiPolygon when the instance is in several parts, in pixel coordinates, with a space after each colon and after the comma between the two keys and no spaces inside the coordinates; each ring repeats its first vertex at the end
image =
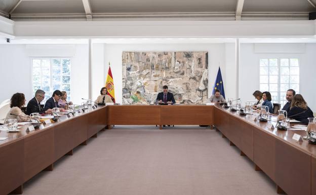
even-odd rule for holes
{"type": "Polygon", "coordinates": [[[208,52],[123,52],[124,104],[152,104],[167,85],[176,103],[205,103],[208,52]]]}

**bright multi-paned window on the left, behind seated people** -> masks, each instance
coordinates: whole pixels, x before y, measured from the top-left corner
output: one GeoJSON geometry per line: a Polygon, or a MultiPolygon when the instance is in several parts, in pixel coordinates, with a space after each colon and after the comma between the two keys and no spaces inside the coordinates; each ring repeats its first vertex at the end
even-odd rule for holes
{"type": "Polygon", "coordinates": [[[49,99],[55,90],[66,91],[70,100],[70,63],[69,58],[33,58],[32,94],[42,89],[45,99],[49,99]]]}

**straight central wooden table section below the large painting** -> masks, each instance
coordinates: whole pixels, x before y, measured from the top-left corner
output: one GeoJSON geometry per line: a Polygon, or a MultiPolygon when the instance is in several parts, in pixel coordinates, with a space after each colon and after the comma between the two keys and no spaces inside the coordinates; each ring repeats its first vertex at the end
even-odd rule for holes
{"type": "Polygon", "coordinates": [[[109,125],[213,125],[214,106],[110,105],[109,125]]]}

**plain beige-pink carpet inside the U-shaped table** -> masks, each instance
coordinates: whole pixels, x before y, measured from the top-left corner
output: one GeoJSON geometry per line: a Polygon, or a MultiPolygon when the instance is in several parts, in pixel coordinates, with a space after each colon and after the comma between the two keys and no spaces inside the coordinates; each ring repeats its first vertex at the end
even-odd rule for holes
{"type": "Polygon", "coordinates": [[[115,126],[24,185],[43,194],[277,194],[275,184],[215,130],[115,126]]]}

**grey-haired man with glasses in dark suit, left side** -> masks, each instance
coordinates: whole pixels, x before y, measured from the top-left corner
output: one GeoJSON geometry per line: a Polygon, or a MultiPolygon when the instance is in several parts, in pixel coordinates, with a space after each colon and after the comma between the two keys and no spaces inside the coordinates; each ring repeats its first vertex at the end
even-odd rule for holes
{"type": "Polygon", "coordinates": [[[30,115],[31,113],[38,112],[40,114],[43,113],[52,113],[52,109],[44,110],[41,108],[41,102],[45,98],[45,91],[43,90],[36,90],[35,97],[32,98],[28,103],[26,107],[26,114],[30,115]]]}

